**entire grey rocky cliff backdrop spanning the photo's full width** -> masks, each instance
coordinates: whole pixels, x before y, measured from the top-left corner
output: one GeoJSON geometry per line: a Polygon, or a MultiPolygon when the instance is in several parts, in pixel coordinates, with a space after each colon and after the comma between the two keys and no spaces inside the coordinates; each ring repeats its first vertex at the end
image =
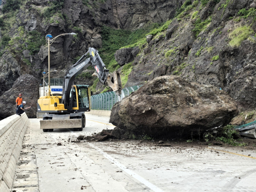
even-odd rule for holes
{"type": "MultiPolygon", "coordinates": [[[[222,88],[242,110],[255,108],[253,0],[3,0],[0,10],[0,95],[22,74],[40,81],[48,71],[46,34],[77,34],[59,37],[51,46],[51,70],[57,70],[53,77],[62,78],[88,47],[102,49],[103,55],[109,51],[105,26],[134,34],[152,24],[142,39],[123,45],[128,50],[116,52],[115,67],[102,57],[110,68],[122,65],[121,74],[128,76],[125,86],[179,75],[222,88]]],[[[91,73],[86,70],[76,83],[102,91],[91,73]]]]}

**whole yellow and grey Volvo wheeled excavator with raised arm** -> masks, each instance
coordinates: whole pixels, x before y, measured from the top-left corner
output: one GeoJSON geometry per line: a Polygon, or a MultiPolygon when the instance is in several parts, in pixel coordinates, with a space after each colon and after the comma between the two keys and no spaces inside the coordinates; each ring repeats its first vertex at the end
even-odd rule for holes
{"type": "MultiPolygon", "coordinates": [[[[82,131],[86,124],[84,112],[90,111],[90,88],[88,85],[74,85],[74,79],[83,70],[92,66],[99,81],[106,87],[121,94],[122,84],[118,72],[109,73],[102,62],[98,51],[89,48],[73,66],[68,68],[64,76],[62,95],[54,95],[50,88],[47,96],[38,99],[37,112],[45,113],[43,120],[40,120],[40,129],[44,132],[53,129],[73,128],[75,131],[82,131]]],[[[50,81],[49,81],[50,82],[50,81]]]]}

